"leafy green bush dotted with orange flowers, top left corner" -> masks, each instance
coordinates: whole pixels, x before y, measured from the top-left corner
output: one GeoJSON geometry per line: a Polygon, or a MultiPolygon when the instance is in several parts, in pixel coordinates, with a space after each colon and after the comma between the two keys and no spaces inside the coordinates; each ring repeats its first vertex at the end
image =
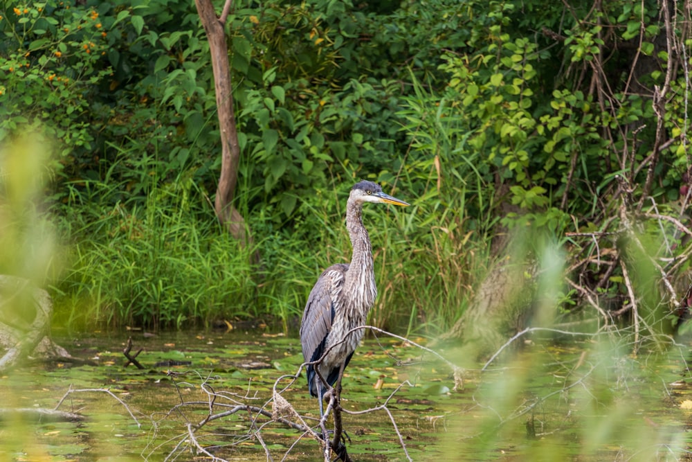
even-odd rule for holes
{"type": "Polygon", "coordinates": [[[44,127],[69,166],[93,149],[90,105],[110,73],[100,66],[107,33],[98,12],[3,1],[0,16],[0,141],[44,127]]]}

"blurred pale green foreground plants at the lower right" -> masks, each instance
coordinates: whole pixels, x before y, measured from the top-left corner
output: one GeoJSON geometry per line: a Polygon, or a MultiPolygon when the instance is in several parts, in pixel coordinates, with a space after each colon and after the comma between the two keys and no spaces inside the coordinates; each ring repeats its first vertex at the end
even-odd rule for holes
{"type": "MultiPolygon", "coordinates": [[[[554,328],[565,290],[565,254],[550,242],[536,253],[538,297],[529,326],[554,328]]],[[[632,265],[633,272],[656,281],[647,261],[632,265]]],[[[644,305],[661,305],[646,284],[637,290],[644,305]]],[[[650,326],[659,324],[659,315],[649,313],[650,326]]],[[[536,344],[516,346],[471,381],[477,387],[465,393],[473,393],[475,406],[452,409],[447,423],[449,460],[688,460],[686,417],[668,388],[686,375],[688,348],[672,342],[659,348],[657,337],[665,336],[650,330],[634,353],[639,341],[631,326],[600,333],[588,326],[576,337],[540,332],[536,344]]]]}

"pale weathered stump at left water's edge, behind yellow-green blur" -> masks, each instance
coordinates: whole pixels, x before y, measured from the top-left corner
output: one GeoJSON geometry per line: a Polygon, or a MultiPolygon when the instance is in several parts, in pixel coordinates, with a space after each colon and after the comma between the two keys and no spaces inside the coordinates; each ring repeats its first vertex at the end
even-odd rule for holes
{"type": "Polygon", "coordinates": [[[71,358],[48,337],[52,313],[48,292],[26,279],[0,275],[0,372],[25,357],[71,358]]]}

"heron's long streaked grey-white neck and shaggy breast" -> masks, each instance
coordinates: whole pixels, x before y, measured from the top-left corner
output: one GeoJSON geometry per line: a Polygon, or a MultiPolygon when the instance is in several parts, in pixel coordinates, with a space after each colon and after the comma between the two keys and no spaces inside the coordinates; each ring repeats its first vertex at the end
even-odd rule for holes
{"type": "Polygon", "coordinates": [[[372,268],[370,237],[363,226],[363,207],[351,200],[346,204],[346,229],[351,238],[353,256],[346,273],[344,290],[352,296],[349,309],[361,313],[363,315],[361,321],[364,322],[367,311],[375,302],[377,288],[372,268]]]}

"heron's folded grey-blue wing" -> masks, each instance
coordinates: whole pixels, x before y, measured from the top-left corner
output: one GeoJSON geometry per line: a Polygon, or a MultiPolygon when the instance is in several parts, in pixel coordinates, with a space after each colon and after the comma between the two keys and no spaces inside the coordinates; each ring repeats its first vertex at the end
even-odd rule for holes
{"type": "Polygon", "coordinates": [[[300,344],[306,362],[324,353],[325,339],[334,319],[334,300],[343,287],[348,265],[340,263],[325,269],[310,291],[300,322],[300,344]]]}

